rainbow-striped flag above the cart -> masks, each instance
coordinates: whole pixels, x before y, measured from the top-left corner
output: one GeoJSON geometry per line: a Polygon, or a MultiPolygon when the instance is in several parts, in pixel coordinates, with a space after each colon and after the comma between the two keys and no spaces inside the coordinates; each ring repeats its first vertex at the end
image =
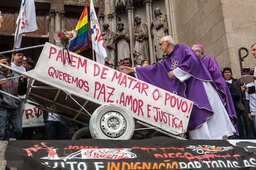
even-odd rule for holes
{"type": "Polygon", "coordinates": [[[69,50],[79,54],[82,51],[90,48],[89,36],[88,36],[88,9],[87,2],[85,3],[85,7],[83,12],[79,18],[79,22],[75,27],[75,31],[77,31],[77,36],[70,41],[69,50]]]}

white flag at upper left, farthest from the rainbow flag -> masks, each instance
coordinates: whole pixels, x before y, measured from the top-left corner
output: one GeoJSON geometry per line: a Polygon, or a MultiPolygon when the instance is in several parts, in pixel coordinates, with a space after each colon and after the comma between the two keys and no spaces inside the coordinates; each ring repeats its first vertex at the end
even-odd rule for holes
{"type": "Polygon", "coordinates": [[[36,25],[34,0],[22,0],[16,24],[18,26],[18,33],[15,34],[15,39],[17,39],[15,48],[19,49],[22,41],[22,33],[28,33],[38,29],[36,25]]]}

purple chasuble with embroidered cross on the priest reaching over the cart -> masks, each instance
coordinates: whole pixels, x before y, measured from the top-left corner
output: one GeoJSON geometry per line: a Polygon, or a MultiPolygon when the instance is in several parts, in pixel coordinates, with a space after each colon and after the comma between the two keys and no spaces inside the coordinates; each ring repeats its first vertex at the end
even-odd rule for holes
{"type": "Polygon", "coordinates": [[[213,116],[211,105],[203,87],[203,81],[213,83],[213,80],[207,68],[190,47],[185,44],[176,44],[173,51],[163,61],[135,69],[139,79],[194,102],[187,128],[189,131],[194,130],[213,116]],[[173,71],[177,67],[191,77],[183,82],[176,77],[170,79],[168,77],[169,71],[173,71]]]}

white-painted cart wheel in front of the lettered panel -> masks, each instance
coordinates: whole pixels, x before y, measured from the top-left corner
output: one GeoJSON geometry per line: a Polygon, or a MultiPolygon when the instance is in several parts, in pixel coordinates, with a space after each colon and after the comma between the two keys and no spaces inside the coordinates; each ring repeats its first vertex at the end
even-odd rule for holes
{"type": "Polygon", "coordinates": [[[114,103],[98,107],[89,122],[94,139],[128,140],[134,134],[134,118],[127,108],[114,103]]]}

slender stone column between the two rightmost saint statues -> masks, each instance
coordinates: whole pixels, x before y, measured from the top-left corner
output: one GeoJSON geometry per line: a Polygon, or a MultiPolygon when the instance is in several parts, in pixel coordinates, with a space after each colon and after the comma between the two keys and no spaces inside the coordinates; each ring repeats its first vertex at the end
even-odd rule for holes
{"type": "Polygon", "coordinates": [[[152,4],[152,0],[145,0],[144,4],[146,6],[146,15],[147,15],[147,26],[148,26],[148,46],[149,46],[149,53],[150,53],[150,63],[155,63],[155,55],[154,55],[154,50],[153,50],[153,41],[151,37],[151,20],[150,20],[150,6],[152,4]]]}

